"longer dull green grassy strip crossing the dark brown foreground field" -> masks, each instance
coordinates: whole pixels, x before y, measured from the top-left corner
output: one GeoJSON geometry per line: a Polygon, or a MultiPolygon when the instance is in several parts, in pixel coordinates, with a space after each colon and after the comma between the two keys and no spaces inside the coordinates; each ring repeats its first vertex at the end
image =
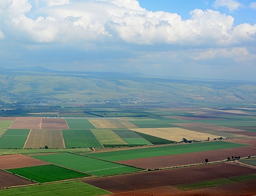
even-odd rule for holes
{"type": "Polygon", "coordinates": [[[189,184],[181,184],[174,187],[183,191],[187,191],[187,190],[196,190],[200,188],[209,188],[213,186],[220,186],[224,184],[233,184],[233,183],[237,183],[237,182],[233,181],[232,179],[222,178],[222,179],[213,179],[213,180],[207,180],[207,181],[201,181],[201,182],[195,182],[195,183],[189,183],[189,184]]]}

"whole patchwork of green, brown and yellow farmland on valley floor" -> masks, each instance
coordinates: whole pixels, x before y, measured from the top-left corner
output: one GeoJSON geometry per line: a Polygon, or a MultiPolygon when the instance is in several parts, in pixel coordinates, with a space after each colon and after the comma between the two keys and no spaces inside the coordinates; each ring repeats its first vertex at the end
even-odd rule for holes
{"type": "Polygon", "coordinates": [[[152,108],[124,118],[109,118],[120,109],[106,118],[71,110],[62,114],[94,118],[0,117],[0,153],[24,153],[0,155],[0,188],[40,183],[0,195],[256,194],[253,109],[152,108]]]}

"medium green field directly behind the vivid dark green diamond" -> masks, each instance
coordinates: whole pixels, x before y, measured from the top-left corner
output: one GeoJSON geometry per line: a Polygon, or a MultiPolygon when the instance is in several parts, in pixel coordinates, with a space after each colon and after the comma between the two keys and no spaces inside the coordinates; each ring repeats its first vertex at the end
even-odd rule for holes
{"type": "Polygon", "coordinates": [[[58,153],[52,155],[36,155],[33,156],[38,160],[51,162],[76,171],[83,171],[92,175],[113,175],[118,173],[126,173],[138,171],[137,168],[124,166],[112,162],[105,162],[91,157],[82,155],[74,155],[72,153],[58,153]]]}

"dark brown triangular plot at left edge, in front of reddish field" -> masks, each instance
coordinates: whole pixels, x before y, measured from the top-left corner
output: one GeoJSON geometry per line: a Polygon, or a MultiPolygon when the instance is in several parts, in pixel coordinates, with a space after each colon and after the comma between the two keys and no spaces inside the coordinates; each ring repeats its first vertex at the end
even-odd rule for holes
{"type": "MultiPolygon", "coordinates": [[[[10,186],[21,186],[27,184],[34,184],[34,182],[29,181],[28,179],[23,179],[16,175],[12,175],[5,171],[0,170],[0,188],[10,187],[10,186]]],[[[1,192],[0,192],[1,195],[1,192]]]]}

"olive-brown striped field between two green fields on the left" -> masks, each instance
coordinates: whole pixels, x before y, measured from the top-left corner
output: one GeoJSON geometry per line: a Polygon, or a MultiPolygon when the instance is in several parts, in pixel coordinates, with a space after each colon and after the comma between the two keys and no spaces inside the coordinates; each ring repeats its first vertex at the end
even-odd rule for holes
{"type": "Polygon", "coordinates": [[[39,149],[48,146],[51,149],[63,149],[63,135],[58,129],[33,129],[24,149],[39,149]]]}

